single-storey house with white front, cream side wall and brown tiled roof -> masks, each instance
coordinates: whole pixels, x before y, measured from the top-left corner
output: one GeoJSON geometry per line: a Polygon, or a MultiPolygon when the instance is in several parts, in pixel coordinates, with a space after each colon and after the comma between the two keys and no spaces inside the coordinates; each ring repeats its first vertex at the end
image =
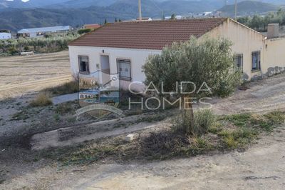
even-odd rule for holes
{"type": "Polygon", "coordinates": [[[234,61],[244,79],[271,76],[285,69],[285,38],[278,25],[269,24],[264,36],[232,19],[187,19],[169,21],[133,21],[107,24],[69,44],[73,74],[104,70],[119,73],[120,85],[142,83],[142,65],[152,54],[161,54],[174,41],[197,38],[226,38],[232,41],[234,61]]]}

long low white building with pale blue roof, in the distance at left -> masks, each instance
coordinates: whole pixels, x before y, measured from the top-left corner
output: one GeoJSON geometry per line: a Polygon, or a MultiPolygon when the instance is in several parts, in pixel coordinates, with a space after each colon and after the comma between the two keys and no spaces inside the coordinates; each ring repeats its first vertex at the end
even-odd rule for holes
{"type": "Polygon", "coordinates": [[[35,38],[43,37],[45,34],[66,33],[68,31],[71,31],[71,26],[53,26],[34,29],[21,29],[20,31],[18,31],[17,36],[35,38]]]}

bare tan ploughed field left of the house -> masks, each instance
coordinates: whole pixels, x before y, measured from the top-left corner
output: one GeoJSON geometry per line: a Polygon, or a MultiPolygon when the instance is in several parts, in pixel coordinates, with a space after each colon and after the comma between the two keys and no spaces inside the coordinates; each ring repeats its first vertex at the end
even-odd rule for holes
{"type": "Polygon", "coordinates": [[[68,51],[0,57],[0,99],[21,96],[70,80],[68,51]]]}

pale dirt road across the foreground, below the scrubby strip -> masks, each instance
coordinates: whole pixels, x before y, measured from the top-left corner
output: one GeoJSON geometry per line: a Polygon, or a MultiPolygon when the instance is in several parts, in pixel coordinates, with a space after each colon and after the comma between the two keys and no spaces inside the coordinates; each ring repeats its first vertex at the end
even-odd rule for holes
{"type": "Polygon", "coordinates": [[[58,189],[284,189],[285,130],[246,152],[147,164],[110,164],[59,180],[58,189]],[[67,181],[66,181],[67,180],[67,181]]]}

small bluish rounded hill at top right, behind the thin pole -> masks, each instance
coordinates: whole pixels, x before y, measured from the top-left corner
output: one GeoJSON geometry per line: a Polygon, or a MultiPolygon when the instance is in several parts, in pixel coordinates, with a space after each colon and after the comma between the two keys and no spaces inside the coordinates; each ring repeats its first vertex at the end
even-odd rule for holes
{"type": "MultiPolygon", "coordinates": [[[[281,6],[259,1],[242,1],[237,4],[237,14],[239,16],[261,14],[269,11],[277,11],[280,8],[281,6]]],[[[222,11],[222,16],[234,16],[234,4],[224,6],[218,11],[222,11]]]]}

